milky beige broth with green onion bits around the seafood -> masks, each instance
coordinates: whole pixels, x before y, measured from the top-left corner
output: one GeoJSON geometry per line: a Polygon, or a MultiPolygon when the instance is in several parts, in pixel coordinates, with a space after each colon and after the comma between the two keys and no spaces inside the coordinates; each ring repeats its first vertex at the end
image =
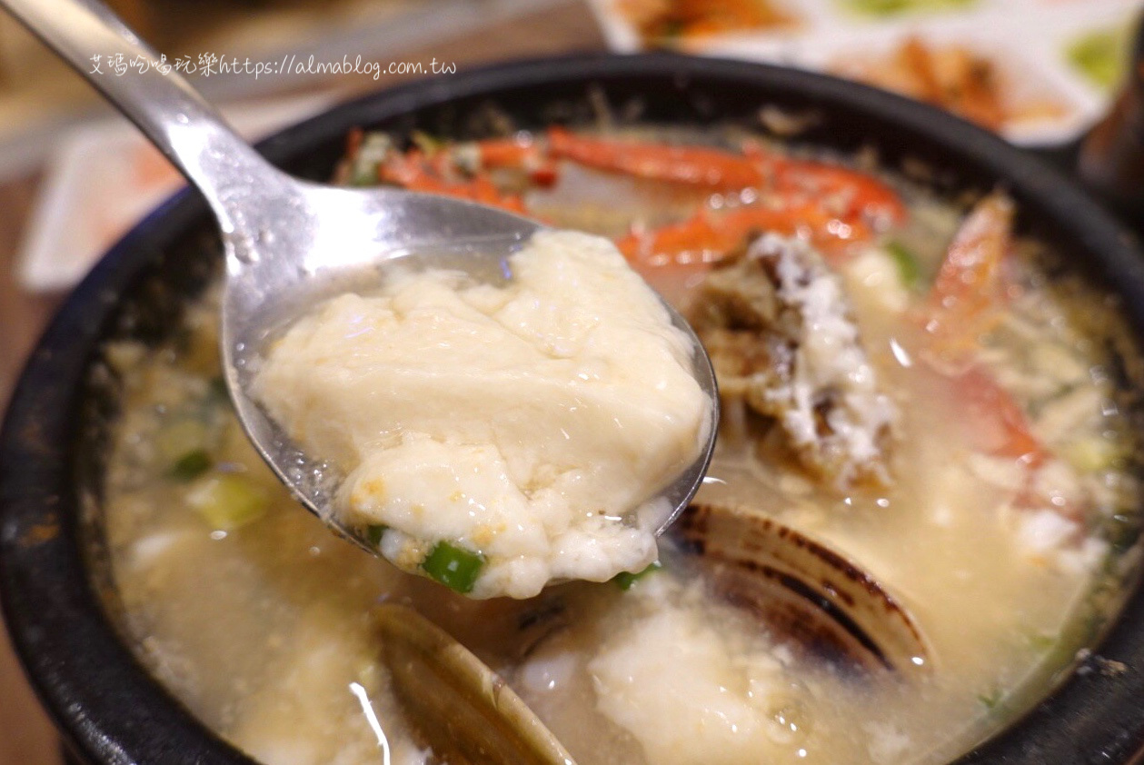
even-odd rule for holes
{"type": "MultiPolygon", "coordinates": [[[[925,196],[911,209],[899,238],[930,242],[914,252],[931,274],[963,210],[925,196]]],[[[662,568],[627,589],[569,583],[525,601],[468,600],[371,557],[292,502],[246,441],[217,389],[210,295],[172,343],[106,352],[122,414],[104,518],[134,647],[207,725],[268,765],[382,762],[355,683],[391,762],[435,762],[380,663],[379,599],[412,604],[468,645],[580,765],[952,758],[1043,693],[1098,633],[1119,601],[1128,564],[1114,548],[1137,503],[1130,403],[1118,391],[1119,359],[1131,350],[1114,306],[1068,279],[1050,286],[1035,248],[1017,249],[1009,278],[1020,288],[982,358],[1038,438],[1066,455],[1044,492],[1085,534],[1048,543],[1060,525],[1014,507],[1011,465],[980,453],[958,381],[923,362],[911,313],[923,296],[895,281],[880,246],[834,268],[900,413],[892,483],[839,491],[789,460],[761,460],[737,424],[741,412],[724,403],[698,497],[757,508],[866,568],[920,627],[930,647],[921,671],[865,675],[815,661],[713,597],[670,542],[662,568]],[[694,709],[705,694],[706,711],[694,709]],[[712,712],[697,724],[723,703],[718,720],[712,712]],[[672,717],[673,704],[690,711],[672,717]],[[734,731],[716,730],[744,710],[749,719],[734,731]]],[[[645,276],[682,303],[693,296],[692,270],[645,276]]]]}

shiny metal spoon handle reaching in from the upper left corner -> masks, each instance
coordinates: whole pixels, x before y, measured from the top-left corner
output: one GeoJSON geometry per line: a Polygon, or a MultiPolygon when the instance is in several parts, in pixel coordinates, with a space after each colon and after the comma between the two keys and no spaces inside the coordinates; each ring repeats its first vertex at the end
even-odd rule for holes
{"type": "Polygon", "coordinates": [[[285,176],[262,159],[165,56],[98,0],[0,0],[0,7],[43,40],[135,122],[199,188],[233,231],[251,189],[285,176]],[[125,69],[126,67],[126,69],[125,69]],[[229,201],[229,204],[227,204],[229,201]]]}

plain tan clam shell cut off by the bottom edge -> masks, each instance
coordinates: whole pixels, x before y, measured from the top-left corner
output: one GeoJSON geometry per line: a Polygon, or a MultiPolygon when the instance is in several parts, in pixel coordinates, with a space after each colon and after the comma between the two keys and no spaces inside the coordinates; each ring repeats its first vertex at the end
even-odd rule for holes
{"type": "Polygon", "coordinates": [[[574,765],[505,680],[443,629],[392,603],[375,619],[394,692],[444,762],[574,765]]]}

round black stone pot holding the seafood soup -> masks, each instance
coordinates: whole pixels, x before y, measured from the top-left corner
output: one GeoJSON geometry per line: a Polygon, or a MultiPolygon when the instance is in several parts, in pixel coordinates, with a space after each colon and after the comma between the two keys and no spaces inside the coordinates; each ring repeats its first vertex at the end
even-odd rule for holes
{"type": "MultiPolygon", "coordinates": [[[[945,113],[863,86],[785,69],[667,54],[495,66],[399,87],[264,142],[286,169],[326,178],[357,126],[464,137],[495,106],[523,126],[582,121],[603,97],[657,122],[756,122],[764,104],[812,112],[796,140],[885,164],[919,160],[951,190],[1003,186],[1020,226],[1119,293],[1144,338],[1144,256],[1131,236],[1059,173],[945,113]]],[[[134,659],[116,627],[101,534],[101,461],[114,412],[93,382],[109,337],[157,340],[216,272],[206,205],[184,191],[120,241],[64,304],[21,378],[0,432],[0,596],[13,640],[77,756],[92,763],[249,763],[207,731],[134,659]]],[[[1144,344],[1144,343],[1142,343],[1144,344]]],[[[1144,748],[1144,592],[1097,652],[963,763],[1129,763],[1144,748]],[[1114,664],[1110,662],[1121,662],[1114,664]],[[1115,668],[1117,671],[1109,671],[1115,668]]]]}

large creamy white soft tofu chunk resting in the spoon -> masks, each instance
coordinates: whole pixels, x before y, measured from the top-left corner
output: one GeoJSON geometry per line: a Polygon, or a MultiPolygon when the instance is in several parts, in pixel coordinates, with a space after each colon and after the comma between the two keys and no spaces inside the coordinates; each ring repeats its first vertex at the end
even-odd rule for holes
{"type": "MultiPolygon", "coordinates": [[[[505,286],[405,273],[342,295],[270,350],[256,390],[347,475],[336,512],[419,571],[438,541],[471,595],[530,597],[656,558],[656,492],[698,456],[693,348],[606,239],[537,234],[505,286]]],[[[661,517],[661,516],[660,516],[661,517]]]]}

